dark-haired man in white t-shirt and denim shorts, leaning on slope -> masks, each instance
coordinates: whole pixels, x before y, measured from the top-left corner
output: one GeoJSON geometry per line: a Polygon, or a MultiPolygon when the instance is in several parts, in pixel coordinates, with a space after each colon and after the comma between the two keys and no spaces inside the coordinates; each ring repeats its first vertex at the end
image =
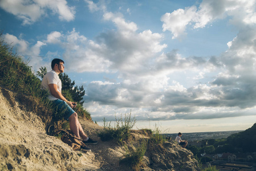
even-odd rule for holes
{"type": "MultiPolygon", "coordinates": [[[[83,139],[84,144],[97,144],[97,141],[90,139],[83,131],[78,121],[78,114],[72,109],[76,107],[76,103],[68,101],[62,95],[62,81],[59,74],[64,72],[64,61],[61,59],[53,59],[51,62],[52,70],[44,75],[42,80],[42,88],[50,92],[48,99],[54,103],[58,112],[64,112],[64,119],[70,121],[70,129],[78,138],[83,139]],[[63,111],[64,109],[64,111],[63,111]]],[[[90,152],[91,149],[84,146],[82,150],[90,152]]]]}

